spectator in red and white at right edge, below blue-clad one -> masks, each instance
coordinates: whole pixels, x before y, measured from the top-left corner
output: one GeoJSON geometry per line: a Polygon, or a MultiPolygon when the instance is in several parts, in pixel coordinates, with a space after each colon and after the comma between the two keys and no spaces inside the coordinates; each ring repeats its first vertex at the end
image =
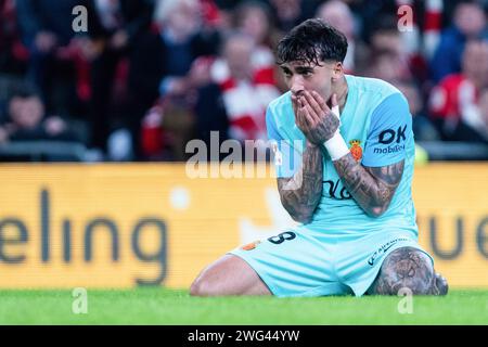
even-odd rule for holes
{"type": "Polygon", "coordinates": [[[431,115],[444,140],[474,141],[479,92],[488,83],[488,42],[466,43],[462,72],[447,76],[431,94],[431,115]]]}

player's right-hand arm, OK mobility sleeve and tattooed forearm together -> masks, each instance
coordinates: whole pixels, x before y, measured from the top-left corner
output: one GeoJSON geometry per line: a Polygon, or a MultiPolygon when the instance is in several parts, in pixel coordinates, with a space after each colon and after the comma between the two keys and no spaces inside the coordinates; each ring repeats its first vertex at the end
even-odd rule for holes
{"type": "MultiPolygon", "coordinates": [[[[371,114],[361,164],[350,153],[334,159],[343,184],[372,217],[385,213],[400,183],[407,151],[413,146],[412,116],[401,93],[385,98],[371,114]],[[389,144],[395,151],[384,153],[389,144]]],[[[412,149],[413,150],[413,149],[412,149]]]]}

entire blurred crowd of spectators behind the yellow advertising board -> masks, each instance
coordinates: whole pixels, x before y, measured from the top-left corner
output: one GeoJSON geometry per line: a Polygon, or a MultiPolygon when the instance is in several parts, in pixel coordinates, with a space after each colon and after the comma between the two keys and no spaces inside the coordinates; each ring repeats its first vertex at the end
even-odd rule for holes
{"type": "Polygon", "coordinates": [[[185,144],[266,139],[286,87],[280,38],[322,17],[346,73],[410,103],[418,141],[488,143],[488,1],[0,0],[0,145],[79,142],[87,160],[183,160],[185,144]],[[74,30],[87,9],[88,30],[74,30]],[[412,11],[409,11],[411,9],[412,11]]]}

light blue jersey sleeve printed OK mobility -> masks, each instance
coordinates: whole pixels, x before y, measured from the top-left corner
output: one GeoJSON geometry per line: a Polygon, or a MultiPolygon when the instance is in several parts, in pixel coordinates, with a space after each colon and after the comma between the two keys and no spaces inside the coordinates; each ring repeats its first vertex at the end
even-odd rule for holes
{"type": "Polygon", "coordinates": [[[413,141],[412,116],[401,93],[385,98],[371,115],[362,165],[387,166],[406,157],[407,144],[413,141]]]}

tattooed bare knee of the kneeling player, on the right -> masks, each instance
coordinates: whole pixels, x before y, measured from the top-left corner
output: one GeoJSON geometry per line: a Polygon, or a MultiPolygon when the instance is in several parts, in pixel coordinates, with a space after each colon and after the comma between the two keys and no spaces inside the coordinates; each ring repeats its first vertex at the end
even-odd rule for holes
{"type": "Polygon", "coordinates": [[[442,295],[447,293],[447,282],[445,287],[439,287],[441,284],[425,253],[413,247],[402,247],[386,257],[369,292],[397,295],[400,290],[409,288],[414,295],[442,295]],[[444,290],[446,293],[442,293],[444,290]]]}

